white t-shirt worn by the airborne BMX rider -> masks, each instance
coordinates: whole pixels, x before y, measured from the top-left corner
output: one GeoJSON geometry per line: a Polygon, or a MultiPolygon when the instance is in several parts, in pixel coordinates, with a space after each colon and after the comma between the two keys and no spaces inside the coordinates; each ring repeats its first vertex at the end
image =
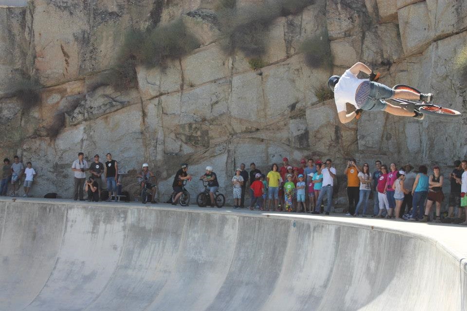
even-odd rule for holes
{"type": "Polygon", "coordinates": [[[356,109],[359,107],[355,102],[355,94],[357,88],[363,81],[370,81],[369,79],[359,79],[355,74],[350,72],[350,69],[345,70],[341,79],[334,87],[334,100],[336,102],[337,112],[347,111],[346,103],[353,104],[356,109]]]}

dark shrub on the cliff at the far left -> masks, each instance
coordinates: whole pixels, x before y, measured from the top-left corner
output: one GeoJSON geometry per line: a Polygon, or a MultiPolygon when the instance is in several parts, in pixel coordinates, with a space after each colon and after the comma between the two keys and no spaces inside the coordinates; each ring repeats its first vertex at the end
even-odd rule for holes
{"type": "Polygon", "coordinates": [[[31,109],[40,103],[40,89],[42,85],[30,75],[23,74],[12,78],[8,85],[8,93],[18,98],[23,109],[31,109]]]}

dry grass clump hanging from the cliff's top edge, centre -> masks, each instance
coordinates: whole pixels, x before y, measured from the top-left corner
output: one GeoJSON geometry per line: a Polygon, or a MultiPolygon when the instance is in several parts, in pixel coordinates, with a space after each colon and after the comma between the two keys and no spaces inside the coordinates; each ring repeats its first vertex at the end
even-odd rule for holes
{"type": "Polygon", "coordinates": [[[259,58],[266,52],[266,38],[273,21],[277,17],[298,14],[313,3],[314,0],[280,0],[241,7],[224,4],[217,12],[224,51],[233,55],[238,50],[247,57],[259,58]]]}

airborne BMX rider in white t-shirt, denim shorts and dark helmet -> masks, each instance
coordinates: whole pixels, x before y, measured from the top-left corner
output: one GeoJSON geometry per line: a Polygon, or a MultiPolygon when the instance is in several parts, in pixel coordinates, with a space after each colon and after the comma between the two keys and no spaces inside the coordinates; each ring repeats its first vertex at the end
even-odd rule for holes
{"type": "Polygon", "coordinates": [[[423,114],[415,110],[414,104],[407,104],[405,108],[402,108],[401,106],[388,104],[384,100],[400,98],[431,103],[433,94],[418,94],[407,89],[392,89],[374,82],[377,78],[377,74],[360,62],[345,70],[341,77],[334,75],[329,78],[327,85],[334,92],[337,114],[342,123],[350,122],[355,117],[358,119],[361,110],[384,110],[392,115],[423,120],[423,114]],[[357,78],[360,71],[368,74],[369,79],[357,78]],[[357,110],[347,114],[347,103],[354,105],[357,110]]]}

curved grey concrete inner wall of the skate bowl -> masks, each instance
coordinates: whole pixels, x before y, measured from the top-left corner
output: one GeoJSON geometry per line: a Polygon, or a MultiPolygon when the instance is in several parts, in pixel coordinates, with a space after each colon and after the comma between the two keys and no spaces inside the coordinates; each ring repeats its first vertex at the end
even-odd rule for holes
{"type": "Polygon", "coordinates": [[[324,218],[18,200],[0,232],[1,311],[466,310],[439,244],[324,218]]]}

